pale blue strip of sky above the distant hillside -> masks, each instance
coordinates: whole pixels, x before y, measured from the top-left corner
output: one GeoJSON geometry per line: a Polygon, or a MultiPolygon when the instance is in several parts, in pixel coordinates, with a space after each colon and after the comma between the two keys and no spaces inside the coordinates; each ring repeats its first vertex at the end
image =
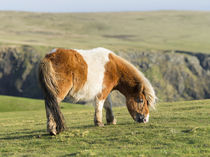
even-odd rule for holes
{"type": "Polygon", "coordinates": [[[32,12],[210,11],[210,0],[0,0],[0,11],[3,10],[32,12]]]}

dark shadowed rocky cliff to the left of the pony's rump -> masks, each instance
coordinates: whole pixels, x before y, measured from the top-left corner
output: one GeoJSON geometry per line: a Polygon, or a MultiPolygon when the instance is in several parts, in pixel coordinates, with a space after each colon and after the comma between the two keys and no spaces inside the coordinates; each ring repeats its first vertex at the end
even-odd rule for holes
{"type": "Polygon", "coordinates": [[[37,86],[40,58],[29,46],[0,48],[0,94],[41,98],[37,86]]]}

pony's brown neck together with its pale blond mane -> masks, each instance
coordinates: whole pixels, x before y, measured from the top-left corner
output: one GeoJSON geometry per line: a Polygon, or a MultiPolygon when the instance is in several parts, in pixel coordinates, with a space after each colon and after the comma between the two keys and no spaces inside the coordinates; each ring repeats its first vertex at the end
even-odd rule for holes
{"type": "Polygon", "coordinates": [[[157,97],[144,74],[119,56],[115,56],[114,60],[118,72],[118,84],[114,89],[119,90],[126,98],[135,97],[141,91],[144,93],[149,106],[155,108],[157,97]]]}

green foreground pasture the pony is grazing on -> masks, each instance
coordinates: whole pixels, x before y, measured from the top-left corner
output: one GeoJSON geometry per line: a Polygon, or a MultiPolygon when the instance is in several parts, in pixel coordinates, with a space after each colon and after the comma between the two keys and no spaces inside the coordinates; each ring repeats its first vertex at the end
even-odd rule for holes
{"type": "Polygon", "coordinates": [[[210,156],[210,100],[160,103],[148,124],[115,107],[100,128],[93,107],[61,107],[68,130],[49,136],[42,100],[0,96],[0,156],[210,156]]]}

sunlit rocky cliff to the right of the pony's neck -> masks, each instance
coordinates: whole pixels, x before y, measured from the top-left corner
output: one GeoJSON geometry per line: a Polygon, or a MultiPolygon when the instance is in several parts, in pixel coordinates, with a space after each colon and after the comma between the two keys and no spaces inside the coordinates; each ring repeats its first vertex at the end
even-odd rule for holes
{"type": "Polygon", "coordinates": [[[160,100],[210,98],[210,55],[185,51],[124,52],[154,86],[160,100]]]}

